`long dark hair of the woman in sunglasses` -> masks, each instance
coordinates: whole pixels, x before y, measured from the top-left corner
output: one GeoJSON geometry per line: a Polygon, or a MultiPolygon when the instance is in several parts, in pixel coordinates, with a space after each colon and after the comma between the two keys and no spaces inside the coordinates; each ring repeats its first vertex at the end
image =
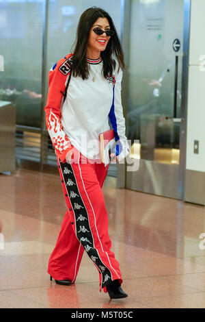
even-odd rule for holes
{"type": "MultiPolygon", "coordinates": [[[[107,18],[109,21],[110,29],[115,32],[109,42],[107,42],[107,47],[105,51],[101,51],[100,56],[103,62],[103,75],[106,78],[107,75],[113,73],[115,69],[115,59],[112,58],[113,53],[118,60],[118,71],[125,68],[124,64],[124,53],[120,45],[120,40],[118,38],[117,31],[113,20],[109,14],[102,8],[92,7],[88,8],[81,14],[79,19],[79,25],[77,27],[77,36],[74,42],[74,51],[72,56],[72,75],[74,77],[80,76],[82,79],[87,79],[89,76],[89,69],[86,57],[87,43],[90,36],[90,29],[92,25],[96,22],[98,18],[107,18]]],[[[72,47],[74,46],[72,45],[72,47]]],[[[71,51],[72,52],[72,51],[71,51]]]]}

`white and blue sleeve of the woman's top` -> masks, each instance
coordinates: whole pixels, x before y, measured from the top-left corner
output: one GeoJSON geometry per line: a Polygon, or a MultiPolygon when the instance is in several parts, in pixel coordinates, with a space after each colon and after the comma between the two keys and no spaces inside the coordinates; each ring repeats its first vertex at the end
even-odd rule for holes
{"type": "MultiPolygon", "coordinates": [[[[116,68],[115,71],[118,69],[116,68]]],[[[125,119],[122,108],[121,98],[121,82],[122,82],[122,69],[120,68],[119,73],[115,72],[115,84],[113,86],[113,103],[109,112],[109,121],[114,130],[115,134],[115,148],[113,152],[116,156],[120,155],[123,158],[128,156],[130,153],[130,147],[127,142],[125,135],[125,119]]]]}

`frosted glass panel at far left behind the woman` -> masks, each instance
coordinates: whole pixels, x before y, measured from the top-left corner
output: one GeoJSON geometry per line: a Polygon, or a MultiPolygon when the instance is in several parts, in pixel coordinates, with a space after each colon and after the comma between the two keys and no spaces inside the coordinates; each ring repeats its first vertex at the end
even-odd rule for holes
{"type": "Polygon", "coordinates": [[[40,127],[43,1],[0,1],[0,99],[16,104],[16,124],[40,127]]]}

